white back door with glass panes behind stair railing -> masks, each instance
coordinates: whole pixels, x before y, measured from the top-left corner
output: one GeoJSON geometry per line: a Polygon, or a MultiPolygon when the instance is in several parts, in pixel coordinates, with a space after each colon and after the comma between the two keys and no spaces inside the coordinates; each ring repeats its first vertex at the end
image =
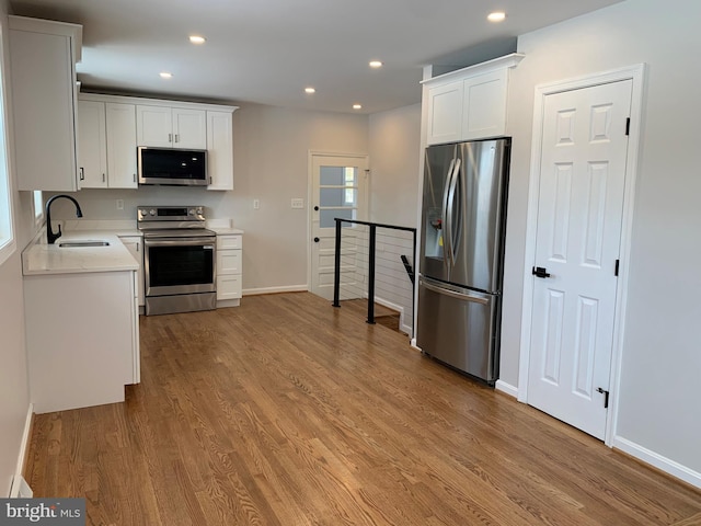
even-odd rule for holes
{"type": "MultiPolygon", "coordinates": [[[[312,194],[311,291],[333,299],[335,218],[366,220],[368,160],[365,156],[311,157],[312,194]]],[[[361,254],[367,254],[367,227],[343,222],[341,243],[341,299],[363,297],[361,254]]]]}

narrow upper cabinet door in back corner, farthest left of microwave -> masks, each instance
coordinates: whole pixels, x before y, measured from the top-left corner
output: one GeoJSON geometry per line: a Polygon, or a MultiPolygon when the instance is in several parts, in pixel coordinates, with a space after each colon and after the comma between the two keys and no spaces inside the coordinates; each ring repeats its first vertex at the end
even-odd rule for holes
{"type": "Polygon", "coordinates": [[[107,186],[105,104],[78,101],[78,167],[83,188],[107,186]]]}

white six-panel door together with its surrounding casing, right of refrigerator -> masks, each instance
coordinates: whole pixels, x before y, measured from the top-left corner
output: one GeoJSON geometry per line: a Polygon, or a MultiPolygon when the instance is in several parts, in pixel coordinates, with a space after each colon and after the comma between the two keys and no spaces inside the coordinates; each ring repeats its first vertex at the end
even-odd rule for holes
{"type": "MultiPolygon", "coordinates": [[[[605,438],[608,445],[613,439],[618,411],[617,390],[620,380],[621,335],[625,310],[643,76],[644,65],[639,65],[585,78],[542,84],[536,89],[518,399],[539,407],[577,427],[585,428],[599,438],[605,438]],[[600,91],[589,90],[593,87],[601,87],[604,91],[613,89],[619,93],[612,95],[610,101],[605,100],[607,96],[597,101],[596,98],[601,95],[597,95],[596,92],[600,93],[600,91]],[[577,112],[577,116],[572,113],[576,104],[573,101],[565,101],[566,96],[574,95],[574,90],[578,90],[585,99],[594,96],[591,100],[584,101],[588,110],[584,113],[577,112]],[[565,92],[572,93],[565,94],[565,92]],[[563,104],[562,107],[553,110],[552,106],[556,105],[554,103],[558,102],[558,98],[550,99],[550,96],[558,94],[564,95],[559,99],[563,104]],[[617,113],[614,106],[624,108],[622,121],[619,116],[614,116],[617,113]],[[551,118],[548,123],[548,117],[553,111],[559,118],[551,118]],[[587,132],[593,136],[585,136],[585,142],[591,142],[598,151],[593,150],[591,162],[585,159],[584,178],[574,176],[571,180],[568,172],[576,173],[575,161],[582,162],[582,159],[567,160],[565,157],[550,155],[547,150],[552,147],[553,151],[560,153],[560,151],[573,149],[567,146],[566,136],[573,135],[570,138],[571,142],[582,140],[574,132],[575,123],[582,121],[582,115],[586,117],[585,121],[594,123],[594,126],[588,128],[590,132],[587,132]],[[604,162],[606,158],[601,157],[602,152],[611,150],[616,141],[620,142],[620,139],[613,135],[618,134],[616,128],[623,130],[624,134],[628,115],[631,117],[630,135],[628,137],[623,135],[622,153],[618,158],[614,156],[613,159],[604,162]],[[609,116],[610,124],[607,121],[609,116]],[[549,126],[550,130],[547,129],[549,126]],[[573,129],[573,133],[570,134],[567,129],[573,129]],[[555,146],[553,138],[548,139],[549,133],[551,137],[564,139],[564,144],[555,146]],[[611,138],[605,138],[607,134],[611,138]],[[616,169],[613,163],[618,163],[619,168],[616,169]],[[611,176],[614,171],[620,174],[618,190],[611,190],[611,176]],[[570,183],[567,183],[568,180],[570,183]],[[560,186],[556,185],[558,182],[560,186]],[[602,186],[605,182],[606,188],[602,186]],[[582,192],[576,190],[581,184],[585,184],[584,197],[581,195],[582,192]],[[542,196],[541,193],[547,195],[542,196]],[[613,197],[616,193],[618,197],[613,197]],[[567,194],[573,196],[572,201],[563,198],[567,194]],[[595,198],[596,196],[598,199],[595,198]],[[541,197],[545,199],[543,206],[539,206],[541,197]],[[605,201],[600,201],[601,198],[605,201]],[[612,202],[617,204],[611,205],[612,202]],[[547,203],[550,203],[550,207],[545,205],[547,203]],[[559,208],[555,206],[556,203],[559,208]],[[576,211],[577,208],[579,213],[576,211]],[[572,218],[582,216],[582,210],[588,210],[584,213],[583,218],[572,218]],[[548,214],[551,219],[543,222],[548,214]],[[610,222],[611,216],[612,222],[610,222]],[[553,217],[556,219],[552,219],[553,217]],[[567,220],[565,228],[563,222],[567,220]],[[585,230],[588,235],[581,236],[577,229],[585,230]],[[611,253],[614,253],[613,258],[611,253]],[[543,254],[548,254],[553,261],[547,263],[541,261],[543,254]],[[613,259],[612,262],[607,261],[610,258],[613,259]],[[618,279],[613,274],[617,259],[621,261],[618,279]],[[565,262],[572,264],[573,261],[579,263],[572,265],[574,271],[563,272],[563,266],[567,266],[565,262]],[[548,268],[552,277],[540,279],[532,276],[531,264],[548,268]],[[597,267],[600,270],[597,271],[597,267]],[[610,284],[608,287],[600,284],[597,285],[598,288],[594,286],[597,278],[593,276],[596,276],[597,272],[604,277],[604,282],[613,281],[612,287],[610,284]],[[572,284],[578,281],[584,283],[583,290],[566,289],[566,287],[572,288],[572,284]],[[602,296],[604,289],[608,295],[606,297],[602,296]],[[606,305],[607,301],[608,305],[606,305]],[[608,317],[605,316],[607,313],[608,317]],[[601,321],[602,316],[606,321],[601,321]],[[558,319],[565,324],[558,325],[555,322],[558,319]],[[572,327],[568,327],[567,322],[572,327]],[[577,324],[579,328],[587,327],[589,332],[583,330],[577,332],[577,324]],[[561,329],[555,329],[558,327],[561,329]],[[543,342],[547,343],[543,344],[543,342]],[[605,357],[597,355],[596,352],[587,353],[587,350],[601,346],[601,342],[608,342],[604,345],[605,357]],[[543,351],[543,346],[547,345],[550,347],[543,351]],[[555,352],[559,345],[562,346],[560,348],[570,348],[572,352],[559,354],[555,352]],[[531,377],[539,379],[531,381],[531,377]],[[554,388],[556,384],[562,386],[561,390],[565,391],[564,395],[554,388]],[[550,391],[549,396],[539,392],[539,387],[542,386],[545,387],[545,391],[550,391]],[[606,395],[596,391],[599,387],[610,391],[612,411],[604,410],[606,395]],[[571,398],[579,405],[590,409],[584,410],[577,403],[567,408],[570,402],[563,401],[563,398],[571,398]],[[589,405],[584,403],[587,399],[589,405]],[[540,407],[543,401],[555,408],[540,407]],[[588,423],[587,419],[595,424],[588,423]]],[[[549,259],[548,256],[545,259],[549,259]]]]}

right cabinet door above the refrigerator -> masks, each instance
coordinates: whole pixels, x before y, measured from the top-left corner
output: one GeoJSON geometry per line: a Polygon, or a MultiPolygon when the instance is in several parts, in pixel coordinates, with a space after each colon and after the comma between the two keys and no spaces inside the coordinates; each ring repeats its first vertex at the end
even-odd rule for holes
{"type": "Polygon", "coordinates": [[[506,134],[506,83],[502,69],[466,79],[462,139],[482,139],[506,134]]]}

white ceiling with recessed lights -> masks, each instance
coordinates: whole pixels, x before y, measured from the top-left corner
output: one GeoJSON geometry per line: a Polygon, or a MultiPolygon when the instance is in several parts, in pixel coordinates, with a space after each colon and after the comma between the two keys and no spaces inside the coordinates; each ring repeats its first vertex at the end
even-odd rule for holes
{"type": "Polygon", "coordinates": [[[515,37],[620,0],[10,0],[83,25],[78,77],[97,91],[334,112],[421,101],[422,68],[514,50],[515,37]],[[486,21],[504,10],[501,24],[486,21]],[[187,37],[207,38],[202,46],[187,37]],[[371,70],[368,61],[384,66],[371,70]],[[163,80],[159,72],[173,73],[163,80]],[[317,93],[303,89],[313,85],[317,93]]]}

